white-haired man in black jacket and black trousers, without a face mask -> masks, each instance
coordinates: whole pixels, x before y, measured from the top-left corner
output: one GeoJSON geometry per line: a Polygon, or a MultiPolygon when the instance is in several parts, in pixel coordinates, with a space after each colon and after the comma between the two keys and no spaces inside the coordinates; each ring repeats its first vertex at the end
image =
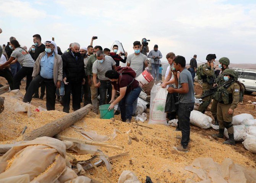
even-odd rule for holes
{"type": "Polygon", "coordinates": [[[75,110],[81,108],[81,89],[85,82],[84,57],[79,53],[80,45],[74,42],[70,51],[62,54],[63,82],[65,94],[63,98],[63,112],[69,113],[70,94],[72,91],[72,107],[75,110]]]}

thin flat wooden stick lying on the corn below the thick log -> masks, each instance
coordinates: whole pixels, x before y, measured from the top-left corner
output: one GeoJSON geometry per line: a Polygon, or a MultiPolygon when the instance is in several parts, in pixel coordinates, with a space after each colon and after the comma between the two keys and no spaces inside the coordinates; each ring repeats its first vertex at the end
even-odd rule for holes
{"type": "Polygon", "coordinates": [[[66,137],[66,136],[62,136],[62,135],[55,135],[54,138],[62,140],[62,141],[71,141],[71,142],[74,142],[74,143],[89,144],[89,145],[93,145],[93,146],[109,147],[109,148],[112,148],[112,149],[123,150],[123,146],[118,146],[118,145],[114,145],[114,144],[108,144],[108,143],[102,143],[102,142],[96,142],[96,141],[89,141],[89,140],[81,140],[81,139],[66,137]]]}

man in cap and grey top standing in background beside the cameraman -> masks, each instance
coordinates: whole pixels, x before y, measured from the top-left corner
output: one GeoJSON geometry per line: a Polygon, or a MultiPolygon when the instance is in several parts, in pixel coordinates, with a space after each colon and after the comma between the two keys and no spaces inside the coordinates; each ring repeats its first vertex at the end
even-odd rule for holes
{"type": "Polygon", "coordinates": [[[159,81],[159,65],[161,63],[160,58],[162,58],[162,53],[158,50],[158,45],[154,45],[154,50],[151,50],[147,55],[151,58],[152,76],[156,81],[159,81]]]}

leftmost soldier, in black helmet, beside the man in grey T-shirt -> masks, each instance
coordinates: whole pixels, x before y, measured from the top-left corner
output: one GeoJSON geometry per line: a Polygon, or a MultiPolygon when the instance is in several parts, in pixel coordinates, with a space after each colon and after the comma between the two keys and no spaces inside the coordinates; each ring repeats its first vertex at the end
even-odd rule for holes
{"type": "MultiPolygon", "coordinates": [[[[216,55],[208,54],[206,57],[207,63],[205,65],[199,66],[197,74],[200,75],[203,84],[203,93],[212,88],[214,83],[215,75],[214,75],[214,62],[216,55]]],[[[200,104],[198,111],[204,113],[210,104],[212,96],[207,96],[202,99],[202,104],[200,104]]]]}

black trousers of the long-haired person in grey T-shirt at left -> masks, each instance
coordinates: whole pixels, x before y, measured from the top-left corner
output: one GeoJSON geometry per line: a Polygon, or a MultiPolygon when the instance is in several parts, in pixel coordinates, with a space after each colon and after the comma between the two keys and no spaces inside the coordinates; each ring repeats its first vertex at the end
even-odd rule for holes
{"type": "Polygon", "coordinates": [[[32,73],[33,73],[33,67],[24,67],[24,66],[21,67],[21,69],[15,74],[13,78],[13,89],[19,89],[19,83],[21,82],[21,79],[23,79],[26,76],[27,77],[26,91],[27,91],[28,86],[32,81],[32,73]]]}

